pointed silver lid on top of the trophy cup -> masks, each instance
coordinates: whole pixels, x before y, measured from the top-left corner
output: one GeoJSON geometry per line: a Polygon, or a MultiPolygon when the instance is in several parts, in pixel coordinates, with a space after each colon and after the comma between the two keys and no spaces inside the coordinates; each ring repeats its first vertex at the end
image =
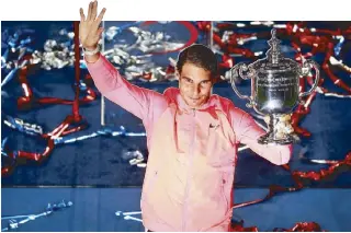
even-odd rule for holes
{"type": "Polygon", "coordinates": [[[298,69],[298,63],[292,59],[284,58],[281,53],[281,40],[276,38],[276,30],[271,31],[272,37],[268,40],[270,49],[265,53],[265,58],[254,62],[253,68],[260,71],[287,71],[298,69]]]}

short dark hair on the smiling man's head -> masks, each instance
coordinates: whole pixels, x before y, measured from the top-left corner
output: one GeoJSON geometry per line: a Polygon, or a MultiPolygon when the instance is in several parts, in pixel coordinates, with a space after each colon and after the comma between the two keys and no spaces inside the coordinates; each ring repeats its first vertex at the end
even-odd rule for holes
{"type": "Polygon", "coordinates": [[[177,70],[180,73],[186,62],[210,71],[212,78],[217,77],[218,61],[216,55],[205,45],[193,44],[179,53],[177,70]]]}

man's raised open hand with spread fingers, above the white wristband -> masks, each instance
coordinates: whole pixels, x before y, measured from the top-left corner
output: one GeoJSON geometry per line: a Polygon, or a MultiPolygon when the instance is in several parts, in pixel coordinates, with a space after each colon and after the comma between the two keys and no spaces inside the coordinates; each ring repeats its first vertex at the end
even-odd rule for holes
{"type": "Polygon", "coordinates": [[[79,24],[79,39],[83,48],[88,50],[94,50],[101,38],[103,27],[100,27],[100,23],[106,9],[103,8],[97,18],[98,1],[89,3],[88,16],[86,18],[83,9],[80,8],[80,24],[79,24]]]}

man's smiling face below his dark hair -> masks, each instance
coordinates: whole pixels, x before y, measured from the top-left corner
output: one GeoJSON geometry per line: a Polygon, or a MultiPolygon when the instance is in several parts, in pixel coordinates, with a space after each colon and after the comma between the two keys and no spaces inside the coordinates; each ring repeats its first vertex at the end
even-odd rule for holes
{"type": "Polygon", "coordinates": [[[207,102],[213,84],[210,71],[185,62],[178,75],[180,94],[190,107],[197,108],[207,102]]]}

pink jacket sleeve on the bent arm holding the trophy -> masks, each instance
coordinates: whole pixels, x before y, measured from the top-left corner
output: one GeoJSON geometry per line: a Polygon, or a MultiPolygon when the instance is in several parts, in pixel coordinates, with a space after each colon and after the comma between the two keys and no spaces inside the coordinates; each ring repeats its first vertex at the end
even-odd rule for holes
{"type": "Polygon", "coordinates": [[[247,144],[253,152],[273,164],[288,163],[293,151],[292,144],[260,144],[257,140],[265,131],[256,124],[252,116],[236,107],[230,110],[230,116],[237,142],[247,144]]]}

